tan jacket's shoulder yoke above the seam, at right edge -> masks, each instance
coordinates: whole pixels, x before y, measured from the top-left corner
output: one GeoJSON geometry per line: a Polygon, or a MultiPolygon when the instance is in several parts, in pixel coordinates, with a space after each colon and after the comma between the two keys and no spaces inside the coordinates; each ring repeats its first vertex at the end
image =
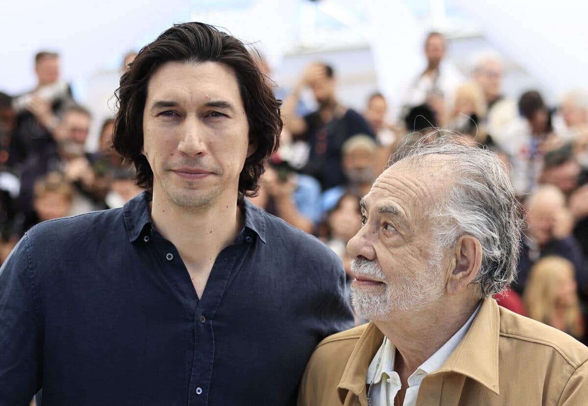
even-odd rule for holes
{"type": "Polygon", "coordinates": [[[588,361],[588,347],[571,335],[503,307],[500,307],[500,340],[516,341],[510,347],[513,349],[552,352],[574,370],[588,361]]]}

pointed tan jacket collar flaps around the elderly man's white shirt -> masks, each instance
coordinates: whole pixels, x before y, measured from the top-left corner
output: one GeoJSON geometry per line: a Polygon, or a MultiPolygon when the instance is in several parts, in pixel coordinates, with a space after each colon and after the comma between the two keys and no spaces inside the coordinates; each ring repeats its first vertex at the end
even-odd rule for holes
{"type": "MultiPolygon", "coordinates": [[[[498,304],[495,299],[489,297],[482,302],[472,326],[459,342],[455,351],[449,355],[439,370],[432,372],[427,377],[443,372],[454,372],[465,375],[498,394],[499,335],[498,304]]],[[[339,381],[337,391],[341,402],[345,401],[348,391],[352,391],[360,399],[366,398],[368,367],[378,348],[382,345],[383,339],[382,332],[370,322],[353,348],[343,376],[339,381]]]]}

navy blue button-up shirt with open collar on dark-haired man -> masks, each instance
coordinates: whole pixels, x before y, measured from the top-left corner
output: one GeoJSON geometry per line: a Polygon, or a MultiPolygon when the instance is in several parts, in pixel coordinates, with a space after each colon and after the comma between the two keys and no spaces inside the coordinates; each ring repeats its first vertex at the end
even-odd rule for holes
{"type": "Polygon", "coordinates": [[[243,211],[200,299],[145,194],[31,229],[0,269],[0,405],[295,404],[316,344],[353,324],[342,263],[243,211]]]}

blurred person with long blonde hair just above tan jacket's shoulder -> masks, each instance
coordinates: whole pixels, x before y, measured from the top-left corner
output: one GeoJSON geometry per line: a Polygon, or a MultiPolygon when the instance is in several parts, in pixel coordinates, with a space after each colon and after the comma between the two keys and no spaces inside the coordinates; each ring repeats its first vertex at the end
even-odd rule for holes
{"type": "Polygon", "coordinates": [[[527,314],[585,343],[576,289],[572,262],[554,255],[540,259],[533,265],[524,289],[527,314]]]}

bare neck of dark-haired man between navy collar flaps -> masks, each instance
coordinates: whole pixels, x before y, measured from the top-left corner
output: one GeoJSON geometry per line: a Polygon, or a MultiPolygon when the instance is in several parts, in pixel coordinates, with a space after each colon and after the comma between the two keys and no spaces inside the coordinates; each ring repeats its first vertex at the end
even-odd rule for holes
{"type": "Polygon", "coordinates": [[[158,232],[178,249],[188,269],[212,267],[219,252],[235,241],[243,227],[236,192],[205,207],[183,208],[154,190],[151,218],[158,232]]]}

